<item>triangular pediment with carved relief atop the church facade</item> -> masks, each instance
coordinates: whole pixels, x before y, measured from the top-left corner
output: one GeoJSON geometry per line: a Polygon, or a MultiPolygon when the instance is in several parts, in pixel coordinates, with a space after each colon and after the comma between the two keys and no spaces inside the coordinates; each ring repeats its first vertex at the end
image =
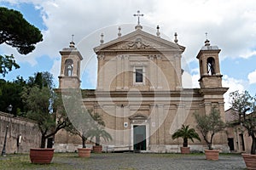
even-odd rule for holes
{"type": "Polygon", "coordinates": [[[137,29],[123,37],[118,37],[113,41],[106,42],[94,48],[99,52],[118,52],[118,51],[184,51],[184,47],[177,43],[167,41],[161,37],[156,37],[148,32],[137,29]]]}

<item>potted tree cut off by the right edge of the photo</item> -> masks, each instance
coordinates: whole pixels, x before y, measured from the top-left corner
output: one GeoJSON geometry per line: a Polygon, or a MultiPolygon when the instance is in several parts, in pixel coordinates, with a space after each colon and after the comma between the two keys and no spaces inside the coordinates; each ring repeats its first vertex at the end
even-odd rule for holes
{"type": "Polygon", "coordinates": [[[247,91],[241,94],[238,91],[230,93],[233,113],[239,117],[238,122],[247,129],[252,137],[250,153],[241,154],[247,169],[256,169],[256,96],[251,96],[247,91]]]}

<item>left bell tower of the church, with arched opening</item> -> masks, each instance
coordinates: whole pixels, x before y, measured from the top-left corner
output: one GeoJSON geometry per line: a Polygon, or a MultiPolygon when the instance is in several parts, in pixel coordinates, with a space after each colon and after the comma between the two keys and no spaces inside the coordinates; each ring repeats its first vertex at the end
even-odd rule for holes
{"type": "Polygon", "coordinates": [[[61,75],[59,88],[80,88],[80,63],[83,59],[72,41],[69,48],[63,48],[61,54],[61,75]]]}

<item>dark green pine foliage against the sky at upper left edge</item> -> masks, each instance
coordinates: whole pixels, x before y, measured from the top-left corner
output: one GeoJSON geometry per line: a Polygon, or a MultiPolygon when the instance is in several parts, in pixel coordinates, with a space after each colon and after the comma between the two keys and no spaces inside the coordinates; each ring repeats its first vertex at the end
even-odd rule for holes
{"type": "MultiPolygon", "coordinates": [[[[0,16],[0,44],[16,48],[20,54],[29,54],[36,48],[36,43],[43,41],[41,31],[28,23],[19,11],[0,7],[0,16]]],[[[20,68],[13,55],[0,55],[0,74],[3,77],[13,67],[20,68]]]]}

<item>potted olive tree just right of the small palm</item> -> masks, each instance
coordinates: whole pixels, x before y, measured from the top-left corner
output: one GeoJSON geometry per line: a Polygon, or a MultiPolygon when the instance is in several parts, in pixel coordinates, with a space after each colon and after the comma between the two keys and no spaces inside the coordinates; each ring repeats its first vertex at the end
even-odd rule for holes
{"type": "Polygon", "coordinates": [[[215,107],[212,107],[209,115],[195,114],[195,121],[197,122],[196,127],[199,129],[203,139],[207,143],[208,150],[205,150],[207,160],[218,160],[219,150],[213,150],[212,140],[214,134],[222,131],[225,127],[219,111],[215,107]]]}

